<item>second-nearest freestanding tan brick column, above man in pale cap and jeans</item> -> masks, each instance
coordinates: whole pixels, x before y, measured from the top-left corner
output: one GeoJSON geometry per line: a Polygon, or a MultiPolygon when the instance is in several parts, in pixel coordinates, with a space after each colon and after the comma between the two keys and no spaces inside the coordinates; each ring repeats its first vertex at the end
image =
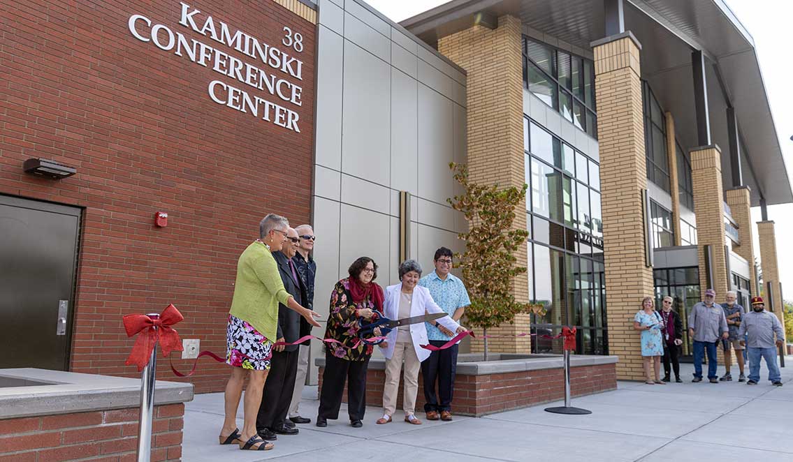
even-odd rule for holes
{"type": "Polygon", "coordinates": [[[722,300],[730,288],[727,279],[724,246],[724,200],[722,199],[722,151],[716,145],[697,147],[691,151],[691,179],[694,183],[694,212],[696,234],[699,242],[699,288],[716,291],[716,300],[722,300]],[[711,246],[711,287],[707,284],[705,246],[711,246]]]}

